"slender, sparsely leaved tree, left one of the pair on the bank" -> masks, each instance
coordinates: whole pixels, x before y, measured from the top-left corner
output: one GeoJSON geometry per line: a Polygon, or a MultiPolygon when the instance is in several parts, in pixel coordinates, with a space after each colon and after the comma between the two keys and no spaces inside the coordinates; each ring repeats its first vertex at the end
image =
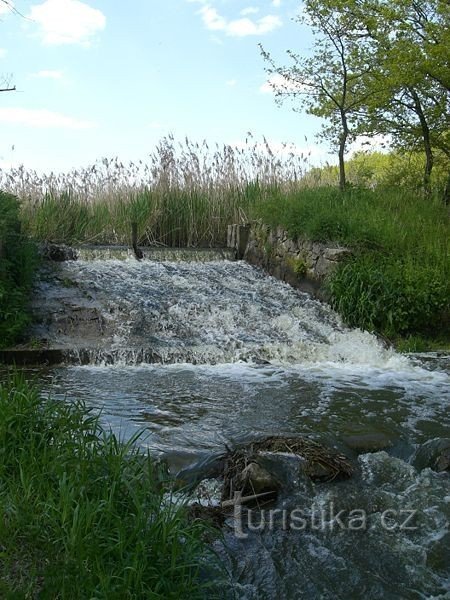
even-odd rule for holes
{"type": "Polygon", "coordinates": [[[321,135],[337,149],[341,190],[346,187],[347,144],[357,133],[359,113],[368,97],[378,93],[365,85],[374,68],[371,40],[364,22],[355,20],[349,10],[351,4],[306,0],[305,15],[297,21],[312,27],[314,51],[304,57],[288,50],[289,66],[277,66],[260,45],[277,101],[299,99],[308,114],[327,121],[321,135]]]}

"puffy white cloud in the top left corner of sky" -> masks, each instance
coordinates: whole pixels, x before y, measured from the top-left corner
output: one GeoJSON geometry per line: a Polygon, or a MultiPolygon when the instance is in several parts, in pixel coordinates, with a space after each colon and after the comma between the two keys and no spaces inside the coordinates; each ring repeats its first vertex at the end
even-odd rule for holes
{"type": "Polygon", "coordinates": [[[92,37],[105,28],[106,17],[79,0],[46,0],[31,7],[28,15],[40,28],[48,45],[89,45],[92,37]]]}

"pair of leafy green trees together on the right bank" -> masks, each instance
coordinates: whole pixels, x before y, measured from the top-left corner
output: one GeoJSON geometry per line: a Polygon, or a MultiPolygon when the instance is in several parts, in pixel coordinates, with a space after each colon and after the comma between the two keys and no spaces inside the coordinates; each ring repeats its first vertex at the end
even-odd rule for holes
{"type": "Polygon", "coordinates": [[[326,136],[339,142],[341,189],[347,141],[382,135],[396,149],[424,153],[422,183],[430,195],[437,153],[450,171],[449,3],[306,0],[303,8],[298,21],[312,27],[313,53],[289,50],[292,64],[279,67],[262,50],[276,97],[300,99],[326,120],[326,136]]]}

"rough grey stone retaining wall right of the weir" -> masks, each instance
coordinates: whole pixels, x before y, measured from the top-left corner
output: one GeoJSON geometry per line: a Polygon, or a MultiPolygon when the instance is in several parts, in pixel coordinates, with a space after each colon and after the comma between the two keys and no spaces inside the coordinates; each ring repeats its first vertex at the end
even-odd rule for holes
{"type": "Polygon", "coordinates": [[[351,254],[342,246],[293,240],[281,227],[271,229],[262,223],[229,225],[227,242],[238,259],[320,299],[327,275],[351,254]]]}

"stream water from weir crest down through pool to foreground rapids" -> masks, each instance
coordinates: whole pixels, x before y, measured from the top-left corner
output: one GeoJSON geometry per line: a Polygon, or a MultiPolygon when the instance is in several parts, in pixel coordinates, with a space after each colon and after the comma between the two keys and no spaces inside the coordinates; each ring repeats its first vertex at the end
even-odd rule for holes
{"type": "Polygon", "coordinates": [[[35,302],[36,337],[88,364],[43,371],[45,390],[101,408],[122,435],[144,428],[142,444],[174,472],[273,434],[312,436],[347,454],[356,469],[348,481],[315,484],[287,459],[280,468],[277,508],[301,509],[303,530],[280,519],[244,537],[225,529],[217,550],[230,594],[449,597],[449,475],[430,468],[450,437],[445,359],[399,355],[326,305],[220,257],[169,262],[161,251],[158,262],[138,262],[97,252],[52,268],[35,302]],[[354,449],[358,436],[375,439],[373,452],[354,449]],[[364,531],[332,528],[331,508],[364,511],[364,531]],[[393,527],[406,510],[416,511],[415,528],[393,527]]]}

